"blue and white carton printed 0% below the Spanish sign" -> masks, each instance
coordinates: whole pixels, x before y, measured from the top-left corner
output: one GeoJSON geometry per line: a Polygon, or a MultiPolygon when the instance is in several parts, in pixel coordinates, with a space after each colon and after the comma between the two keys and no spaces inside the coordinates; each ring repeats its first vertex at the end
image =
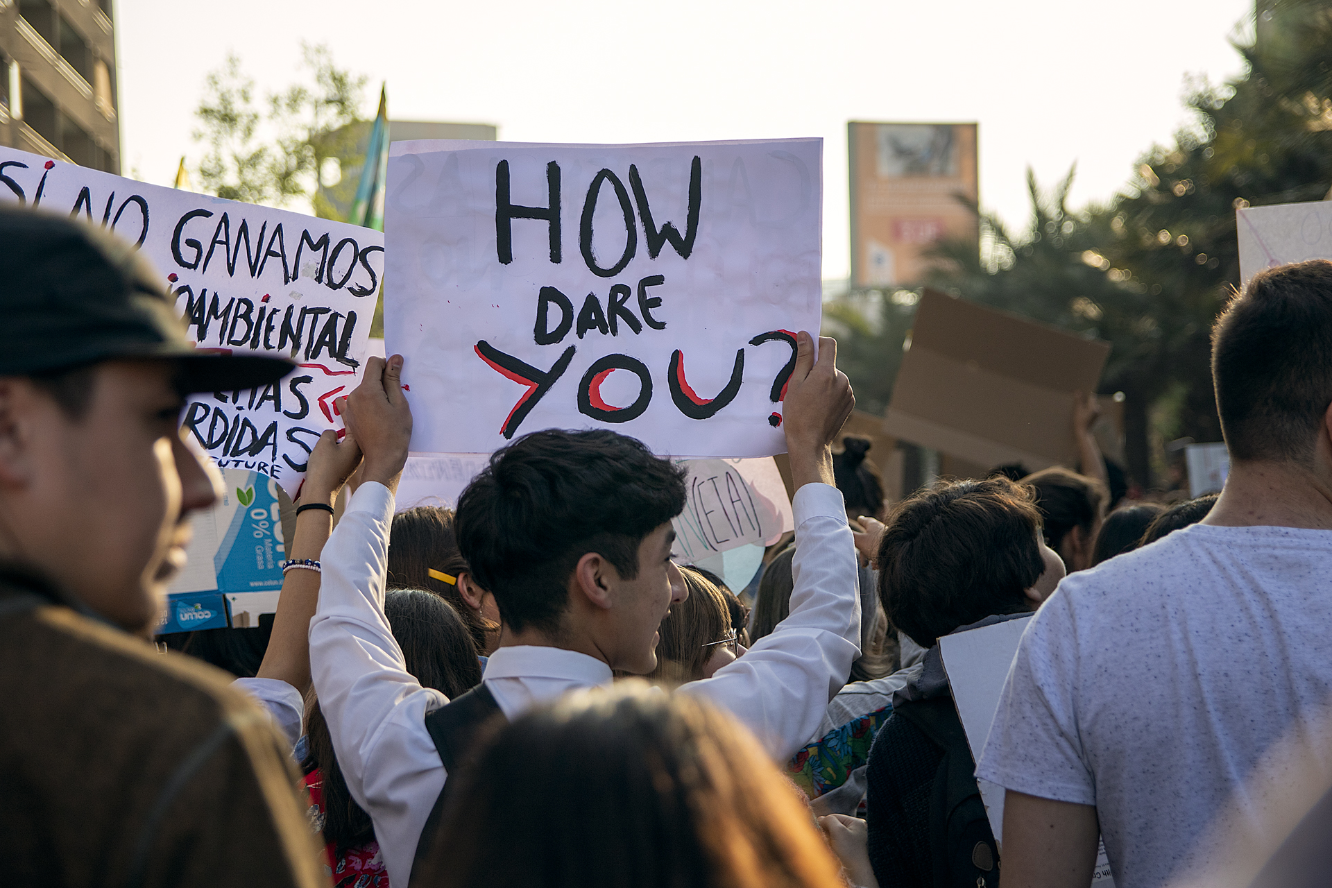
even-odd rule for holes
{"type": "Polygon", "coordinates": [[[222,471],[221,499],[208,511],[190,518],[194,531],[185,550],[185,568],[168,587],[166,623],[159,632],[184,632],[214,626],[258,626],[260,614],[277,610],[282,588],[282,562],[286,545],[277,502],[277,483],[257,471],[226,469],[222,471]],[[265,592],[268,598],[246,595],[265,592]],[[240,595],[241,598],[234,598],[240,595]],[[233,619],[228,623],[224,598],[233,619]],[[177,608],[193,612],[184,618],[177,608]],[[264,610],[268,608],[268,610],[264,610]],[[202,616],[209,611],[209,616],[202,616]],[[249,614],[240,620],[240,612],[249,614]],[[221,618],[221,623],[216,620],[221,618]],[[204,624],[206,622],[206,624],[204,624]]]}

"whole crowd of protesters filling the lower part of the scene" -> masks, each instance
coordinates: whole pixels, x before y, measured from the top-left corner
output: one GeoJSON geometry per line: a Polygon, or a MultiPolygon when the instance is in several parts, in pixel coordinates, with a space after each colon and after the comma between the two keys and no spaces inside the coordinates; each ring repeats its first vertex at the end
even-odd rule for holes
{"type": "Polygon", "coordinates": [[[7,208],[0,237],[15,884],[1086,888],[1102,840],[1124,888],[1321,872],[1332,262],[1227,306],[1229,478],[1168,507],[1124,498],[1090,397],[1078,466],[888,502],[840,433],[836,343],[801,333],[794,533],[739,592],[673,560],[683,470],[613,431],[527,434],[456,510],[396,514],[412,410],[402,358],[370,358],[310,454],[276,615],[166,651],[217,497],[182,397],[292,365],[193,350],[99,230],[7,208]],[[1010,620],[974,750],[940,639],[1010,620]]]}

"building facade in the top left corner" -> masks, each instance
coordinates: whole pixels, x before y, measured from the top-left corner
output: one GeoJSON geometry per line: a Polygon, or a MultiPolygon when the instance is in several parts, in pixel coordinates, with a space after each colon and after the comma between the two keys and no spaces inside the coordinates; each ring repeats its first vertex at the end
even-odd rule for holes
{"type": "Polygon", "coordinates": [[[112,0],[0,0],[0,144],[120,173],[112,0]]]}

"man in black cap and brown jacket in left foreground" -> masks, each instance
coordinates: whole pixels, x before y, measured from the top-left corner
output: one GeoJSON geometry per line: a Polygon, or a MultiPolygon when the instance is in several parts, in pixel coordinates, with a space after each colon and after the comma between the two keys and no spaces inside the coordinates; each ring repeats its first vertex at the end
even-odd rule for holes
{"type": "Polygon", "coordinates": [[[137,250],[0,208],[0,835],[16,884],[313,885],[294,772],[218,672],[143,638],[218,475],[184,395],[284,377],[196,351],[137,250]]]}

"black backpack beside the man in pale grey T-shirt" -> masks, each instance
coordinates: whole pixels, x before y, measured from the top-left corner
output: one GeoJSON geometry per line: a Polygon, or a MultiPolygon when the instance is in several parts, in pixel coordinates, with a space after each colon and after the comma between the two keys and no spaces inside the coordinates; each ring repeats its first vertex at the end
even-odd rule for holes
{"type": "Polygon", "coordinates": [[[976,763],[951,696],[892,708],[943,750],[930,792],[934,888],[998,888],[999,848],[976,785],[976,763]]]}

